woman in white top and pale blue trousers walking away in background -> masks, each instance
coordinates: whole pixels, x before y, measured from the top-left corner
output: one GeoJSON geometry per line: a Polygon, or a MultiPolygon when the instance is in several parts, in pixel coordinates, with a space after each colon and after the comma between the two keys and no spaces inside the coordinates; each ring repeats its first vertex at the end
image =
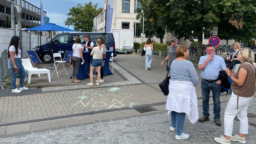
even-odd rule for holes
{"type": "Polygon", "coordinates": [[[152,50],[154,50],[154,49],[153,49],[152,42],[151,42],[151,38],[148,38],[148,39],[146,40],[146,44],[144,45],[144,49],[146,49],[146,54],[145,54],[145,60],[146,60],[145,68],[146,68],[146,70],[150,70],[150,69],[151,69],[151,63],[152,63],[152,60],[153,60],[152,50]]]}

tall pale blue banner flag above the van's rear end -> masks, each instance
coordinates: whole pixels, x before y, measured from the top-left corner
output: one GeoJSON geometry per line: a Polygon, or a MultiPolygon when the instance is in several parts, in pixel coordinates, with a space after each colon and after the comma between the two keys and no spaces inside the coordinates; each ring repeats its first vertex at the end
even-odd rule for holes
{"type": "Polygon", "coordinates": [[[106,23],[105,23],[105,32],[111,31],[112,25],[112,18],[113,18],[113,11],[114,11],[114,0],[107,1],[107,8],[106,8],[106,23]]]}

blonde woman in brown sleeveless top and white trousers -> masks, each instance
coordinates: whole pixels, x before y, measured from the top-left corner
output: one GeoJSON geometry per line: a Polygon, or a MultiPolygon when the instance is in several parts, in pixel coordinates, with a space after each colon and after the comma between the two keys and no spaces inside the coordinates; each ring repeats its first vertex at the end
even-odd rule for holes
{"type": "Polygon", "coordinates": [[[237,73],[225,69],[232,80],[232,95],[229,99],[224,116],[224,136],[214,138],[219,144],[230,144],[231,141],[246,143],[245,134],[248,134],[247,108],[255,92],[254,54],[251,49],[241,49],[238,52],[238,61],[241,62],[237,73]],[[239,134],[232,136],[234,117],[240,121],[239,134]]]}

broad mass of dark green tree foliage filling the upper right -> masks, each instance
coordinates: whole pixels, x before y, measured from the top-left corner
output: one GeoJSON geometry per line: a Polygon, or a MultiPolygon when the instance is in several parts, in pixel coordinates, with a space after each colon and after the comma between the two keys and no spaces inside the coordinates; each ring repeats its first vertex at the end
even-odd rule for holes
{"type": "MultiPolygon", "coordinates": [[[[220,39],[248,40],[256,36],[254,0],[140,0],[144,17],[156,22],[160,33],[175,31],[178,38],[198,38],[197,56],[201,56],[203,33],[218,27],[220,39]]],[[[142,18],[142,14],[140,17],[142,18]]],[[[148,31],[148,25],[146,31],[148,31]]]]}

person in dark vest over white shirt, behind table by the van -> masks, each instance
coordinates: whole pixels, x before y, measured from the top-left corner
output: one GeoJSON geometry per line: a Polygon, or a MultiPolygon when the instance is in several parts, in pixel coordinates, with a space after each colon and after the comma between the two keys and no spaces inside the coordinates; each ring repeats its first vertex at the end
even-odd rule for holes
{"type": "MultiPolygon", "coordinates": [[[[94,43],[93,41],[89,40],[88,36],[87,35],[83,35],[82,36],[82,39],[83,39],[83,49],[84,51],[89,51],[89,55],[85,61],[85,64],[86,64],[86,72],[87,74],[89,75],[90,74],[90,65],[92,63],[92,56],[90,55],[91,54],[91,50],[93,49],[94,47],[94,43]]],[[[96,72],[94,71],[93,72],[93,77],[96,77],[96,72]]]]}

